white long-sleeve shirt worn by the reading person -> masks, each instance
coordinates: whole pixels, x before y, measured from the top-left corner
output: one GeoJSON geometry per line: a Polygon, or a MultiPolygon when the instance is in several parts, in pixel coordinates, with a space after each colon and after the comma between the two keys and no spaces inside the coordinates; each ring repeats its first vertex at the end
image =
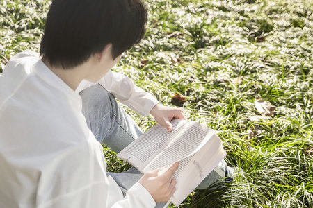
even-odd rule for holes
{"type": "MultiPolygon", "coordinates": [[[[157,102],[118,73],[101,83],[143,115],[157,102]]],[[[106,176],[102,146],[86,125],[81,97],[31,51],[15,55],[0,77],[0,170],[0,207],[156,205],[139,183],[123,198],[106,176]]]]}

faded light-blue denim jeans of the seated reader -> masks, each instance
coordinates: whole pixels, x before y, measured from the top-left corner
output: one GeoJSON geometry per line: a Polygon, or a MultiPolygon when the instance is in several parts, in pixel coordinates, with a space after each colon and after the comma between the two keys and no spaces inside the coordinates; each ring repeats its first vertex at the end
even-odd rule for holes
{"type": "MultiPolygon", "coordinates": [[[[118,105],[114,96],[101,85],[88,87],[80,95],[88,127],[99,142],[111,148],[115,153],[119,153],[131,141],[143,134],[134,120],[118,105]]],[[[118,183],[124,195],[142,176],[142,173],[134,167],[123,173],[108,172],[107,174],[118,183]]],[[[218,186],[214,184],[229,181],[232,181],[232,175],[223,160],[214,171],[207,175],[197,189],[207,189],[212,185],[212,189],[216,189],[218,186]]],[[[157,207],[163,207],[164,204],[158,204],[157,207]]]]}

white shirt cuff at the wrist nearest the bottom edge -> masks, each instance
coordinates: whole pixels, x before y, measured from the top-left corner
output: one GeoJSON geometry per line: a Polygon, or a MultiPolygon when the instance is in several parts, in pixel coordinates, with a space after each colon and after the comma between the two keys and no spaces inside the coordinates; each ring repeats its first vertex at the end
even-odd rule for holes
{"type": "Polygon", "coordinates": [[[143,187],[143,185],[138,183],[138,182],[136,182],[136,184],[134,184],[134,186],[132,186],[127,191],[127,193],[134,195],[134,196],[138,196],[143,207],[146,207],[146,208],[152,207],[153,208],[153,207],[155,207],[155,205],[157,205],[157,203],[154,201],[154,199],[152,198],[149,191],[147,191],[147,189],[145,189],[145,187],[143,187]]]}

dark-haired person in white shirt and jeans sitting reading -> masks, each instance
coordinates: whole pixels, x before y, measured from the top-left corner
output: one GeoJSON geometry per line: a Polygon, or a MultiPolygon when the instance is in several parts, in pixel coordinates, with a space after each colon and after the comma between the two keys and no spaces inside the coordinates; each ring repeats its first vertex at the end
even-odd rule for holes
{"type": "MultiPolygon", "coordinates": [[[[54,0],[40,55],[11,58],[0,78],[1,207],[162,207],[179,164],[158,175],[107,173],[101,143],[116,153],[142,134],[115,98],[172,130],[182,110],[111,71],[145,34],[140,0],[54,0]]],[[[230,176],[221,162],[200,184],[230,176]]]]}

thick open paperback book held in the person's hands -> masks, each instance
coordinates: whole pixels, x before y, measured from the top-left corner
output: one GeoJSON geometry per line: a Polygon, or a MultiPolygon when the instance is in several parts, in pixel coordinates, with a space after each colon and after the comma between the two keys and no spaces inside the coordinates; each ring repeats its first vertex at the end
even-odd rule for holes
{"type": "Polygon", "coordinates": [[[225,156],[214,130],[195,121],[175,119],[172,132],[157,124],[118,153],[141,173],[179,162],[176,191],[170,201],[178,206],[225,156]]]}

